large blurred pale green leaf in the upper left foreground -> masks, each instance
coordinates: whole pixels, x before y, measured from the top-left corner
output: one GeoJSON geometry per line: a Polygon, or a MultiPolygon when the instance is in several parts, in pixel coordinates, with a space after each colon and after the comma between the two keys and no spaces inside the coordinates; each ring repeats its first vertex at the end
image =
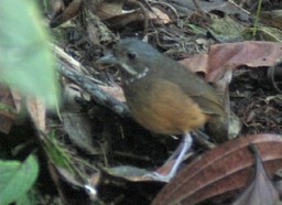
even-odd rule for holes
{"type": "Polygon", "coordinates": [[[0,0],[0,82],[57,105],[55,56],[34,0],[0,0]]]}

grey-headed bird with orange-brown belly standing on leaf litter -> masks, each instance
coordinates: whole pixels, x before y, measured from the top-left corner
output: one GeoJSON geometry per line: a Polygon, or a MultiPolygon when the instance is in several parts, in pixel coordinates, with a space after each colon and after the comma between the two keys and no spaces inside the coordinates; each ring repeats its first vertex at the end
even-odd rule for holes
{"type": "Polygon", "coordinates": [[[214,87],[151,44],[127,37],[96,64],[112,64],[120,71],[129,110],[142,127],[160,134],[183,134],[184,145],[170,181],[192,145],[191,132],[208,125],[215,141],[227,139],[226,111],[214,87]]]}

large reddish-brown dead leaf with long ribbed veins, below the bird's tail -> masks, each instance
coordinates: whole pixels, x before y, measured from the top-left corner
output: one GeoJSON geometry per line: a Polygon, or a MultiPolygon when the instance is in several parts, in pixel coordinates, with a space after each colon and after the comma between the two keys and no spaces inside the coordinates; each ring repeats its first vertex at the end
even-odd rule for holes
{"type": "Polygon", "coordinates": [[[254,174],[250,144],[259,149],[270,176],[282,168],[280,136],[258,134],[228,141],[185,168],[159,193],[153,204],[196,204],[246,187],[254,174]]]}

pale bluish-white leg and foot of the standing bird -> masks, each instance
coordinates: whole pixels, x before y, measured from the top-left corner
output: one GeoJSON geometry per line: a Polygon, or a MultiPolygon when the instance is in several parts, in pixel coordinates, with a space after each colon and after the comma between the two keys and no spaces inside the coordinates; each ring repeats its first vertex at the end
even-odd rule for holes
{"type": "Polygon", "coordinates": [[[177,169],[178,169],[180,164],[182,163],[182,161],[185,157],[185,153],[189,150],[189,148],[192,145],[192,142],[193,142],[193,139],[192,139],[191,134],[188,132],[185,133],[183,136],[183,139],[182,139],[182,144],[175,151],[177,153],[178,149],[181,148],[178,157],[177,157],[175,163],[173,164],[173,168],[172,168],[172,170],[170,171],[169,174],[162,175],[162,174],[159,174],[159,173],[154,172],[153,174],[147,174],[145,176],[151,176],[155,180],[163,181],[163,182],[170,182],[171,179],[175,176],[175,174],[177,172],[177,169]]]}

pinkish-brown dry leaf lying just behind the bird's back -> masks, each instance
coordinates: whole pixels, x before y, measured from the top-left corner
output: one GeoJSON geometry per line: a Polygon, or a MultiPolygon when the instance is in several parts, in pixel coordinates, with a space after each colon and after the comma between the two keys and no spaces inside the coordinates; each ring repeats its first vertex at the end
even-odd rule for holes
{"type": "Polygon", "coordinates": [[[282,43],[247,41],[215,44],[208,56],[199,54],[181,63],[194,72],[206,73],[208,82],[216,82],[227,69],[273,66],[281,56],[282,43]]]}

